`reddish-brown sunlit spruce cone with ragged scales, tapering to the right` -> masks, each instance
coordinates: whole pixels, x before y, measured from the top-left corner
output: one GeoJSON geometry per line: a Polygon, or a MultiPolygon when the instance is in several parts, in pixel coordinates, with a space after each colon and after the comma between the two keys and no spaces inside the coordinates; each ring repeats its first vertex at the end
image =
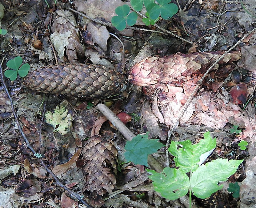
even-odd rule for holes
{"type": "MultiPolygon", "coordinates": [[[[197,78],[207,71],[212,63],[223,55],[224,51],[212,51],[191,54],[175,54],[164,57],[148,57],[136,63],[129,71],[129,81],[134,85],[149,86],[160,83],[182,85],[188,79],[197,78]],[[194,76],[194,77],[193,77],[194,76]]],[[[219,64],[240,59],[240,52],[228,53],[219,64]]],[[[214,69],[219,67],[216,64],[214,69]]]]}

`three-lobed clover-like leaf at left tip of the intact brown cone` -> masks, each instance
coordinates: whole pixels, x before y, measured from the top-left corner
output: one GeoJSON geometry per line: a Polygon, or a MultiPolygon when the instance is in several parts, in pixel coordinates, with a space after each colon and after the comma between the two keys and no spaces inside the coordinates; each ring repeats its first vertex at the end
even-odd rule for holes
{"type": "Polygon", "coordinates": [[[22,58],[20,56],[15,57],[14,59],[9,60],[6,63],[6,66],[10,69],[4,72],[4,76],[10,78],[11,81],[17,78],[19,73],[20,77],[25,77],[28,74],[28,70],[30,68],[28,63],[22,64],[22,58]],[[21,67],[20,67],[21,66],[21,67]]]}

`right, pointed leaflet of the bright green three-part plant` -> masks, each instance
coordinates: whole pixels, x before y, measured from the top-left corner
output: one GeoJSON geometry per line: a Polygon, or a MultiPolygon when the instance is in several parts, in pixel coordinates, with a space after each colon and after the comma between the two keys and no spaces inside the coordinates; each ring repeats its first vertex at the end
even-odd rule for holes
{"type": "Polygon", "coordinates": [[[190,178],[192,192],[198,198],[210,197],[222,188],[218,183],[226,181],[242,162],[243,160],[217,159],[198,167],[190,178]]]}

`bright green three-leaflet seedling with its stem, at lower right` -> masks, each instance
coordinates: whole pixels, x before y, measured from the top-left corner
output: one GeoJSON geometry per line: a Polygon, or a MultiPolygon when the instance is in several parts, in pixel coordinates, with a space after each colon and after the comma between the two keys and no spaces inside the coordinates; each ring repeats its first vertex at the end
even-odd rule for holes
{"type": "Polygon", "coordinates": [[[216,138],[212,139],[210,132],[204,133],[204,139],[192,145],[190,140],[172,141],[168,151],[174,156],[176,168],[165,167],[163,172],[147,170],[153,181],[154,189],[164,198],[175,200],[183,197],[189,191],[189,206],[191,195],[204,199],[220,190],[226,181],[233,175],[243,160],[217,159],[199,166],[200,156],[216,147],[216,138]],[[187,173],[190,172],[190,177],[187,173]]]}

